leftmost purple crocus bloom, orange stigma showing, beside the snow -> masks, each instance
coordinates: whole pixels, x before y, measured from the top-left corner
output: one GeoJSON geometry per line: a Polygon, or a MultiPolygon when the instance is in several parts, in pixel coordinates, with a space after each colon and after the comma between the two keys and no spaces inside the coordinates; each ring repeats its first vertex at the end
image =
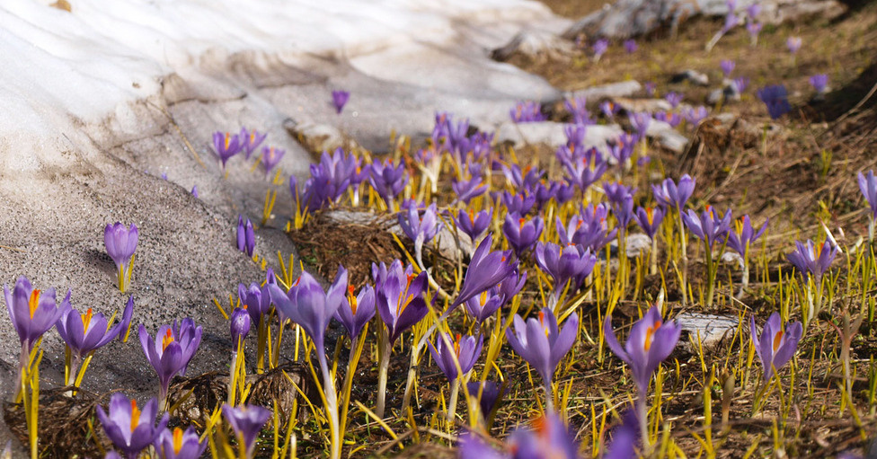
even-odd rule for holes
{"type": "MultiPolygon", "coordinates": [[[[6,309],[9,311],[9,319],[12,320],[18,338],[22,342],[22,354],[30,354],[37,340],[65,313],[65,302],[58,307],[55,300],[55,289],[49,288],[42,291],[31,287],[31,281],[22,276],[15,281],[15,287],[10,292],[3,286],[6,299],[6,309]]],[[[70,293],[67,292],[68,301],[70,293]]],[[[23,356],[22,356],[23,358],[23,356]]],[[[24,361],[22,360],[22,364],[24,361]]]]}

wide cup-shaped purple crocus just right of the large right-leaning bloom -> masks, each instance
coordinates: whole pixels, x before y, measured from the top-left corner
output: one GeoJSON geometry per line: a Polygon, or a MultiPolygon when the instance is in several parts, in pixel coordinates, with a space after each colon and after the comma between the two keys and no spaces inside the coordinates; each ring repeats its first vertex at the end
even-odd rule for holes
{"type": "Polygon", "coordinates": [[[554,280],[554,296],[560,296],[568,281],[571,289],[579,288],[594,269],[597,257],[580,245],[536,243],[536,266],[554,280]]]}

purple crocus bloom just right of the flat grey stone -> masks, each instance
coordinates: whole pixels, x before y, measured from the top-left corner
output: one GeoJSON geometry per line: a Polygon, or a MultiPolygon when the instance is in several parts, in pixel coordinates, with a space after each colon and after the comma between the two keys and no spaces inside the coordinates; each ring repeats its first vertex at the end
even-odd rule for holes
{"type": "Polygon", "coordinates": [[[749,318],[749,332],[752,344],[765,369],[765,382],[770,381],[774,369],[779,370],[786,362],[792,360],[801,340],[803,326],[801,322],[790,322],[783,327],[779,313],[770,314],[765,328],[759,336],[755,328],[755,317],[749,318]]]}

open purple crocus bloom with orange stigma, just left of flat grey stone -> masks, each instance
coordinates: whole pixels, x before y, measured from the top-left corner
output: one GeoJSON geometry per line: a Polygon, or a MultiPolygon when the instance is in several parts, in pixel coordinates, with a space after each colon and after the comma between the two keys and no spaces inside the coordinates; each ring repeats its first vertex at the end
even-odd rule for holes
{"type": "Polygon", "coordinates": [[[607,316],[603,323],[607,346],[616,357],[630,366],[633,382],[641,394],[648,392],[651,374],[676,348],[681,333],[682,327],[675,322],[665,323],[655,306],[633,323],[624,348],[618,343],[616,332],[612,329],[612,317],[607,316]]]}

